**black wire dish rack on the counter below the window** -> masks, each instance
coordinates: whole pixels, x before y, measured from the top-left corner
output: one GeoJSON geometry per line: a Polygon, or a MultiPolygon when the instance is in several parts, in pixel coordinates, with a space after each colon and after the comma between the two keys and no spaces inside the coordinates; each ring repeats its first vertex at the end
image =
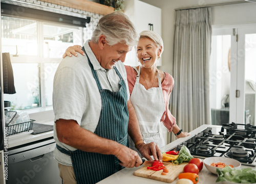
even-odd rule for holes
{"type": "Polygon", "coordinates": [[[20,133],[20,132],[25,132],[25,131],[32,130],[34,121],[35,120],[30,120],[28,122],[18,123],[18,124],[15,124],[15,125],[7,126],[6,127],[7,128],[7,136],[17,134],[17,133],[20,133]]]}

